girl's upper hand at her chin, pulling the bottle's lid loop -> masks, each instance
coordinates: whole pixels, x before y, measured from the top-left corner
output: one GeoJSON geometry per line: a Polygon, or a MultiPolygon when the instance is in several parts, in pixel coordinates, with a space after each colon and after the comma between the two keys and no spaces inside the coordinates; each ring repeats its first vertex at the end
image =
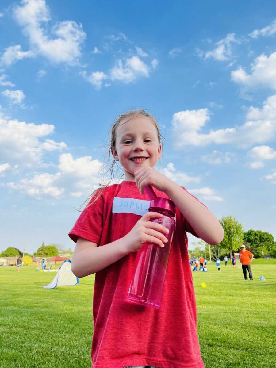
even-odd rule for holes
{"type": "Polygon", "coordinates": [[[145,187],[147,185],[153,185],[156,189],[161,192],[166,192],[166,189],[169,188],[170,179],[159,173],[152,167],[145,167],[144,169],[139,169],[134,171],[134,178],[141,194],[144,194],[145,187]]]}

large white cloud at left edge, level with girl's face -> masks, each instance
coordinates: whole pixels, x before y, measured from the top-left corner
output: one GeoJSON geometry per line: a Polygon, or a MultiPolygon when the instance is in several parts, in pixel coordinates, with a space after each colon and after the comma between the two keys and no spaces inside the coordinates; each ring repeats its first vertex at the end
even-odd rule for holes
{"type": "Polygon", "coordinates": [[[43,145],[41,139],[54,132],[54,125],[25,123],[18,120],[0,118],[0,157],[22,166],[42,166],[43,151],[66,148],[64,142],[56,143],[50,139],[43,145]]]}

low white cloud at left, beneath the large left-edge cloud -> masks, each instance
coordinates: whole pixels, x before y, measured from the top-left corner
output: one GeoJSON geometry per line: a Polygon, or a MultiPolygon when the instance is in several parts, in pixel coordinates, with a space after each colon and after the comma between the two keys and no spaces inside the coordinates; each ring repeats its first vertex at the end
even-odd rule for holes
{"type": "Polygon", "coordinates": [[[35,174],[33,178],[24,178],[18,183],[7,183],[7,187],[11,190],[19,190],[21,193],[28,194],[30,197],[42,199],[43,197],[58,198],[64,193],[64,188],[54,185],[59,180],[60,173],[56,174],[35,174]]]}

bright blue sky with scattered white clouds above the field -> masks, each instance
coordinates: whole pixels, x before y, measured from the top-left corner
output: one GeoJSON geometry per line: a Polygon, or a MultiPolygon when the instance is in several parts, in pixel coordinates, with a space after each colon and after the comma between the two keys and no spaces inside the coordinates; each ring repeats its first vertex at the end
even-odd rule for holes
{"type": "Polygon", "coordinates": [[[74,248],[110,125],[137,107],[166,138],[158,170],[276,238],[275,40],[275,1],[2,0],[0,250],[74,248]]]}

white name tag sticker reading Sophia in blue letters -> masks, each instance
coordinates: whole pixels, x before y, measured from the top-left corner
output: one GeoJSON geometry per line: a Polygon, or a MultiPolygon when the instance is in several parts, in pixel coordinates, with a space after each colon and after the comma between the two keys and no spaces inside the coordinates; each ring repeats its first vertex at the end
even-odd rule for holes
{"type": "Polygon", "coordinates": [[[136,198],[114,197],[112,213],[134,213],[143,216],[148,212],[151,201],[136,198]]]}

